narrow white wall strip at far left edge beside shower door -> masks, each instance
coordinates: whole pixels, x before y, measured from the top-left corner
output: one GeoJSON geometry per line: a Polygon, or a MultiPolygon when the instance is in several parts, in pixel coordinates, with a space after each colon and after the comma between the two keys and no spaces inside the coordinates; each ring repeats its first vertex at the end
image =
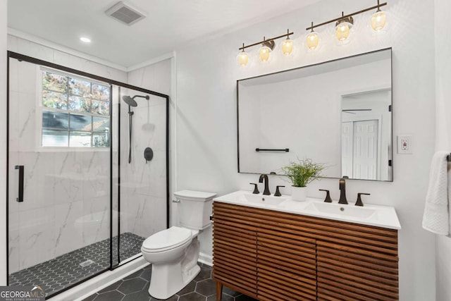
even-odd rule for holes
{"type": "MultiPolygon", "coordinates": [[[[0,2],[0,128],[6,129],[6,51],[7,51],[7,33],[6,22],[7,21],[7,9],[6,1],[0,2]]],[[[6,285],[6,173],[8,168],[6,167],[6,130],[0,131],[0,171],[2,171],[0,181],[0,245],[3,246],[0,249],[0,285],[6,285]]]]}

